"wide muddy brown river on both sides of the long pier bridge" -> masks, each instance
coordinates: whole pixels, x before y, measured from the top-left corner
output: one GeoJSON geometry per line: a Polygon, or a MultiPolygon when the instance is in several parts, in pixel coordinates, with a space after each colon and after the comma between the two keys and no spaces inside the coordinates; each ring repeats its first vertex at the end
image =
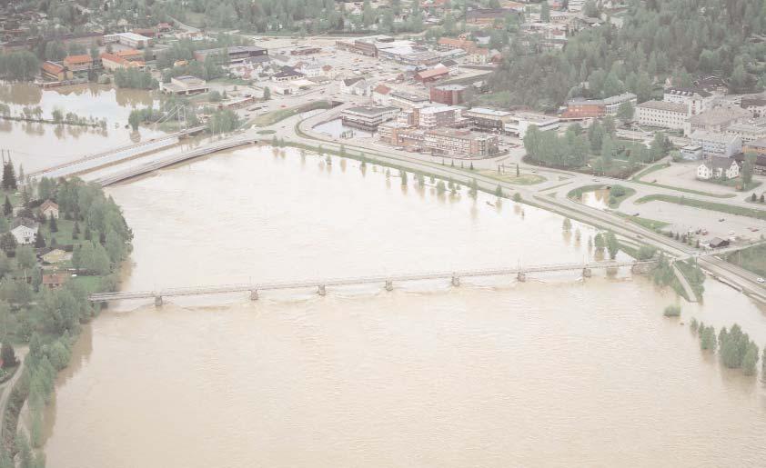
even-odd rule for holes
{"type": "MultiPolygon", "coordinates": [[[[293,150],[109,192],[136,234],[125,290],[593,255],[593,230],[558,215],[293,150]]],[[[766,389],[682,325],[737,321],[766,343],[766,316],[722,284],[680,320],[627,272],[382,286],[106,310],[58,379],[48,466],[763,465],[766,389]]]]}

